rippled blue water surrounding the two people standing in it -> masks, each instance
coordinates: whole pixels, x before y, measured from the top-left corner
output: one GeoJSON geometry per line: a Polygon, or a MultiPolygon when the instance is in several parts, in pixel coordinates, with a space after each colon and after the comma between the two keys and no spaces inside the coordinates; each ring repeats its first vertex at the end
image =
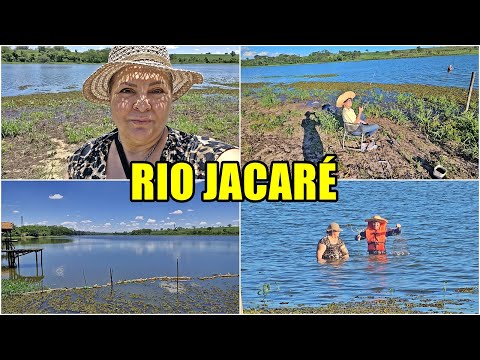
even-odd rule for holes
{"type": "Polygon", "coordinates": [[[468,299],[451,311],[478,313],[477,181],[339,181],[337,203],[242,204],[242,300],[246,308],[319,306],[369,296],[468,299]],[[385,257],[354,237],[380,214],[403,232],[385,257]],[[317,264],[316,246],[332,221],[350,260],[317,264]],[[264,284],[270,292],[263,296],[264,284]],[[280,303],[288,302],[286,304],[280,303]]]}

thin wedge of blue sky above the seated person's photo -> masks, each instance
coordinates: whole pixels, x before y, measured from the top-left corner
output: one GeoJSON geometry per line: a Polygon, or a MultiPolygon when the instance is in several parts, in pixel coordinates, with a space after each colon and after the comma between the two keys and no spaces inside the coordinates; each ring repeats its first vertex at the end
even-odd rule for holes
{"type": "MultiPolygon", "coordinates": [[[[242,46],[242,59],[251,59],[255,55],[262,56],[278,56],[280,54],[288,55],[309,55],[315,51],[328,50],[331,53],[338,53],[342,51],[361,51],[364,52],[368,49],[369,52],[375,51],[388,51],[388,50],[405,50],[415,49],[417,46],[422,45],[409,45],[409,46],[242,46]]],[[[429,46],[422,46],[429,47],[429,46]]]]}

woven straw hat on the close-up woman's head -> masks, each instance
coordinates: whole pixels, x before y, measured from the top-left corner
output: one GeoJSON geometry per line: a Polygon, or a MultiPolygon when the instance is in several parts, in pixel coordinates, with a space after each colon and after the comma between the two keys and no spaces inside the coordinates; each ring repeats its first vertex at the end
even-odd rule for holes
{"type": "Polygon", "coordinates": [[[185,94],[193,84],[203,82],[202,74],[172,68],[168,50],[163,45],[114,46],[108,55],[108,63],[100,67],[83,83],[83,95],[96,103],[110,103],[108,85],[112,76],[128,65],[143,65],[163,69],[173,78],[172,101],[185,94]]]}

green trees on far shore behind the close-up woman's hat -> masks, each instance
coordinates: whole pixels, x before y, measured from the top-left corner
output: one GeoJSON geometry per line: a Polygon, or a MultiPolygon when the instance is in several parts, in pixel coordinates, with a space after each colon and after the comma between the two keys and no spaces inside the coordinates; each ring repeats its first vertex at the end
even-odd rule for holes
{"type": "MultiPolygon", "coordinates": [[[[65,46],[38,46],[30,49],[28,46],[17,46],[12,49],[2,46],[2,62],[4,63],[106,63],[110,48],[102,50],[87,50],[84,52],[70,51],[65,46]]],[[[210,64],[237,63],[239,56],[235,52],[225,54],[171,54],[170,61],[175,64],[210,64]]]]}

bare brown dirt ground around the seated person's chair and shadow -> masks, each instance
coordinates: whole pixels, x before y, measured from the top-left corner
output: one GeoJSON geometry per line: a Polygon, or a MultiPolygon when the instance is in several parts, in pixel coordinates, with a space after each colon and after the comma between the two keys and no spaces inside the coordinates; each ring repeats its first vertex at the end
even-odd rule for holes
{"type": "MultiPolygon", "coordinates": [[[[368,119],[380,125],[374,135],[378,148],[360,152],[360,138],[347,137],[342,149],[343,128],[336,134],[322,131],[312,111],[304,103],[277,106],[267,110],[250,99],[242,99],[242,163],[259,160],[318,162],[324,154],[336,154],[338,177],[349,179],[430,179],[433,168],[441,164],[447,169],[445,179],[477,179],[478,163],[467,161],[433,144],[412,124],[399,125],[388,119],[368,119]],[[250,112],[289,113],[285,123],[272,131],[252,130],[250,112]],[[302,115],[300,115],[302,114],[302,115]],[[292,129],[286,131],[286,129],[292,129]]],[[[315,109],[316,112],[322,110],[315,109]]]]}

